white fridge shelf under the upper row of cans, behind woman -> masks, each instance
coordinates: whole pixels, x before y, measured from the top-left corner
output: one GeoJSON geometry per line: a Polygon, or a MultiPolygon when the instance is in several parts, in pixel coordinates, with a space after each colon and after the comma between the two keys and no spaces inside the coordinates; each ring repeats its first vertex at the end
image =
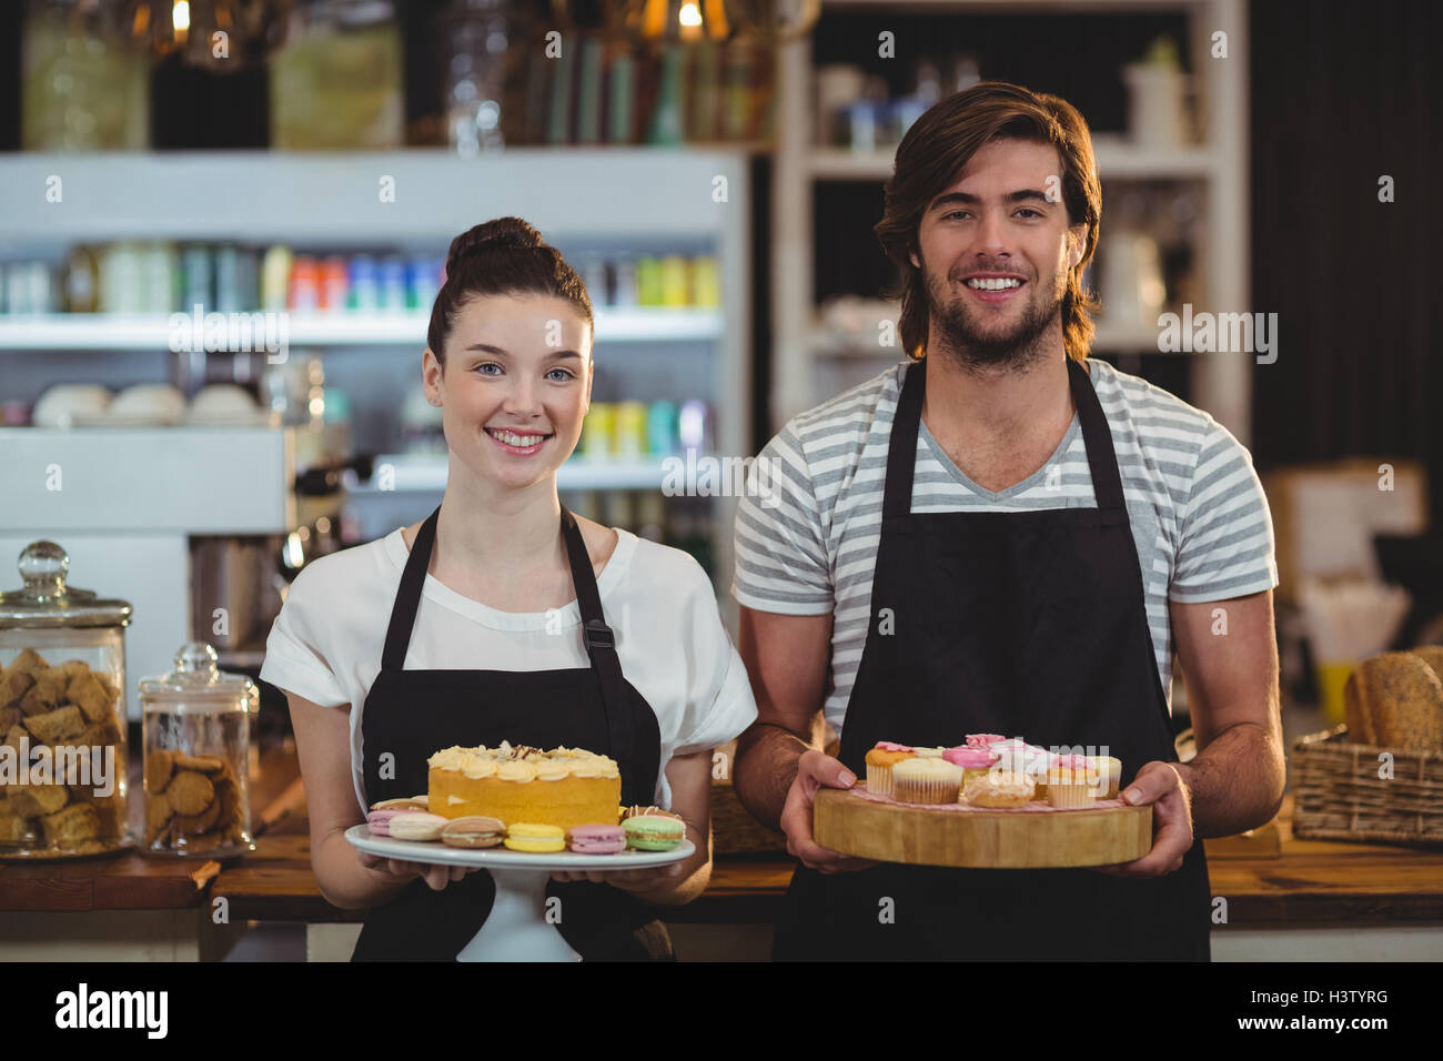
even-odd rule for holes
{"type": "MultiPolygon", "coordinates": [[[[430,313],[289,313],[290,346],[426,345],[430,313]]],[[[596,309],[596,344],[693,342],[722,336],[716,309],[596,309]]],[[[45,313],[0,318],[0,351],[169,349],[172,328],[160,315],[45,313]]],[[[266,349],[263,338],[253,349],[266,349]]]]}

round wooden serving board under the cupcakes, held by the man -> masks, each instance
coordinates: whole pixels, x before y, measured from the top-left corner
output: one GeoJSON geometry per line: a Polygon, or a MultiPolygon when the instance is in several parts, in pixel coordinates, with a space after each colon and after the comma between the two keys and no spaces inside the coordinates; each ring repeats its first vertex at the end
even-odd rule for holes
{"type": "Polygon", "coordinates": [[[918,866],[1105,866],[1152,849],[1153,808],[1117,800],[1088,810],[922,807],[823,788],[812,804],[812,837],[843,855],[918,866]]]}

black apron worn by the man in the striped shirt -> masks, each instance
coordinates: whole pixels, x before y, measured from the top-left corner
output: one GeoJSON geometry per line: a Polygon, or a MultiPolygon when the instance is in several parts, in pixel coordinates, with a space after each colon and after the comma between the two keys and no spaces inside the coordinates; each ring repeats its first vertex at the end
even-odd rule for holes
{"type": "MultiPolygon", "coordinates": [[[[1144,762],[1176,761],[1113,436],[1087,368],[1069,359],[1068,374],[1097,508],[913,514],[926,361],[908,368],[872,625],[841,730],[840,758],[859,778],[879,741],[951,746],[967,733],[1091,745],[1123,761],[1123,787],[1144,762]]],[[[1176,873],[1146,879],[798,866],[773,957],[1208,961],[1208,892],[1201,843],[1176,873]]]]}

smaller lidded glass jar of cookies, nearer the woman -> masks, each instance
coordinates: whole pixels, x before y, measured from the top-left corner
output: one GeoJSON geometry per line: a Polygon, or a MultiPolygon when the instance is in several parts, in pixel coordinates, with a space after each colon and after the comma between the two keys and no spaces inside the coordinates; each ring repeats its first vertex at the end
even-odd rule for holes
{"type": "Polygon", "coordinates": [[[260,694],[244,674],[216,668],[192,641],[170,674],[140,681],[144,716],[146,855],[227,857],[251,837],[251,716],[260,694]]]}

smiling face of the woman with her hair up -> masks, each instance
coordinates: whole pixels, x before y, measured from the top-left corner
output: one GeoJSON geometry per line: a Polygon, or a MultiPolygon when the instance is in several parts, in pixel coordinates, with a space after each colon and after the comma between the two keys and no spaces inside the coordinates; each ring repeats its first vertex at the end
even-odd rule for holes
{"type": "Polygon", "coordinates": [[[592,401],[592,328],[566,299],[488,294],[463,303],[440,370],[423,362],[446,446],[481,481],[530,486],[582,437],[592,401]]]}

